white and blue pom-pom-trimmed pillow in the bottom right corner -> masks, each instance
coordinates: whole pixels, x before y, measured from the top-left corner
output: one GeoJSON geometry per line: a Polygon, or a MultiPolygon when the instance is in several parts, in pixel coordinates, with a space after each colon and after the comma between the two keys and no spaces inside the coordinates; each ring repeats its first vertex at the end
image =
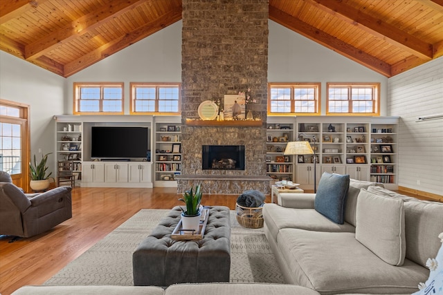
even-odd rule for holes
{"type": "Polygon", "coordinates": [[[413,295],[443,294],[443,233],[438,236],[442,247],[438,250],[437,257],[429,258],[426,266],[431,270],[426,283],[418,285],[420,291],[413,295]]]}

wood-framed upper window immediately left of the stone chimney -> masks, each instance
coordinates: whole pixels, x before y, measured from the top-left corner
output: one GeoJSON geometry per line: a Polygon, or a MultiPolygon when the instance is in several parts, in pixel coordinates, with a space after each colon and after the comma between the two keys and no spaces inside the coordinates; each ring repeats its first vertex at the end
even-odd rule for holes
{"type": "Polygon", "coordinates": [[[130,87],[130,113],[180,113],[180,84],[131,83],[130,87]]]}

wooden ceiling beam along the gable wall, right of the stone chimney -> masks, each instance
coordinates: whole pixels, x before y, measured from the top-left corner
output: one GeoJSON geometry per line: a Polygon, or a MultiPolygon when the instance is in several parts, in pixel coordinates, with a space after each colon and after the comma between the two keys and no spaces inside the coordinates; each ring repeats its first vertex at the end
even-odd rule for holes
{"type": "Polygon", "coordinates": [[[293,31],[296,31],[299,34],[316,41],[318,44],[322,44],[323,46],[326,46],[327,48],[332,49],[337,53],[340,53],[341,55],[362,64],[363,66],[375,70],[381,75],[391,77],[390,65],[386,62],[377,59],[377,57],[373,57],[368,53],[364,53],[362,50],[354,48],[336,37],[318,30],[317,28],[300,21],[300,19],[288,15],[286,12],[282,12],[282,10],[275,8],[274,6],[269,6],[269,19],[280,23],[282,26],[285,26],[293,31]]]}

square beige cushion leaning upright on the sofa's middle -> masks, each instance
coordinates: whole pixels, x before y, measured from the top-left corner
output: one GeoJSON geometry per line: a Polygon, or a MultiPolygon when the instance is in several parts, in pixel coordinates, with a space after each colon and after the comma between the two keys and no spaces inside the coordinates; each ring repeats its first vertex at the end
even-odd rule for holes
{"type": "Polygon", "coordinates": [[[404,201],[361,189],[357,200],[355,238],[390,265],[403,265],[406,255],[404,201]]]}

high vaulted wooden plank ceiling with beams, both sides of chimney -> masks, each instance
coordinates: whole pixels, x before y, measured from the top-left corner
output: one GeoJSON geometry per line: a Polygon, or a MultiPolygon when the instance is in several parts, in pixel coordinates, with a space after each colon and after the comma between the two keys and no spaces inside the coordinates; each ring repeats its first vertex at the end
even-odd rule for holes
{"type": "MultiPolygon", "coordinates": [[[[181,10],[181,0],[1,0],[0,49],[69,77],[181,10]]],[[[443,55],[443,0],[269,0],[269,19],[386,77],[443,55]]]]}

